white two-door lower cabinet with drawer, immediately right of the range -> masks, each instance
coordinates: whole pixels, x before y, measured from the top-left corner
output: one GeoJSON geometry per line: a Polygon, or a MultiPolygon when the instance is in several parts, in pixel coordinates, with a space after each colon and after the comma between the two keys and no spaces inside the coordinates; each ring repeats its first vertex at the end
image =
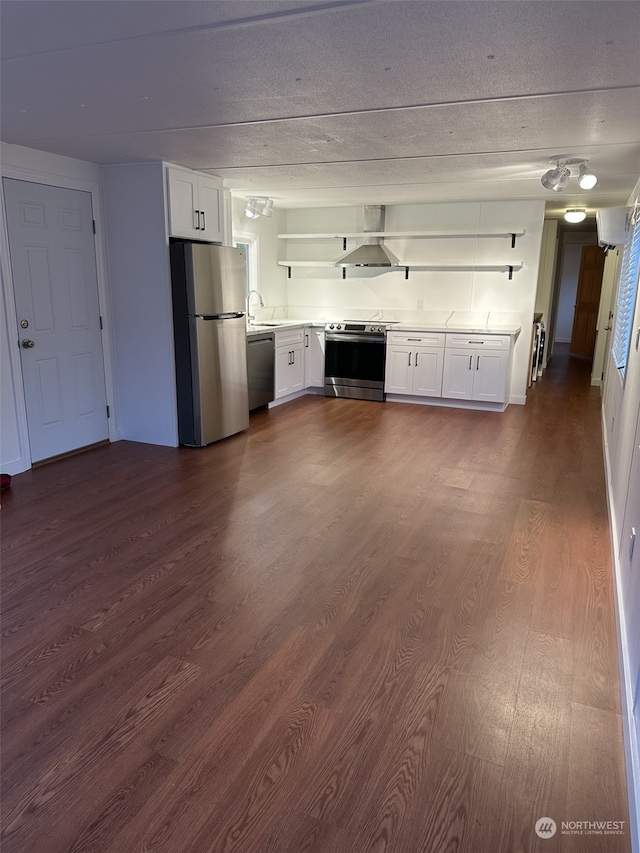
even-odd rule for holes
{"type": "Polygon", "coordinates": [[[384,390],[387,394],[440,397],[444,334],[387,335],[384,390]]]}

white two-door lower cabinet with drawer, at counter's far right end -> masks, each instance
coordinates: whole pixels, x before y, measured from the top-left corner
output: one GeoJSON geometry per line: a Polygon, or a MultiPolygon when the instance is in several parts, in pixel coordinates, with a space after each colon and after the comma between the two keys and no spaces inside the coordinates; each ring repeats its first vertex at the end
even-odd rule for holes
{"type": "Polygon", "coordinates": [[[510,347],[508,335],[447,334],[442,396],[504,403],[510,347]]]}

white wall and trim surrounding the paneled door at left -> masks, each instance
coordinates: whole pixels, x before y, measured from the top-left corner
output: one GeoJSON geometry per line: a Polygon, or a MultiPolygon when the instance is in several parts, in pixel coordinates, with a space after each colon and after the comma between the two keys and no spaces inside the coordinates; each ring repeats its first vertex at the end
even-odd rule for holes
{"type": "MultiPolygon", "coordinates": [[[[111,408],[109,436],[118,438],[117,405],[113,356],[110,343],[111,313],[108,298],[105,260],[102,188],[100,169],[93,163],[59,157],[19,145],[0,143],[2,176],[49,186],[83,190],[91,193],[93,217],[96,220],[96,266],[100,314],[105,325],[103,336],[107,402],[111,408]]],[[[9,261],[8,236],[4,214],[4,191],[0,196],[0,269],[2,284],[0,317],[0,357],[2,358],[0,388],[0,468],[8,474],[18,474],[31,466],[29,435],[24,403],[22,371],[17,350],[18,321],[15,312],[13,278],[9,261]]]]}

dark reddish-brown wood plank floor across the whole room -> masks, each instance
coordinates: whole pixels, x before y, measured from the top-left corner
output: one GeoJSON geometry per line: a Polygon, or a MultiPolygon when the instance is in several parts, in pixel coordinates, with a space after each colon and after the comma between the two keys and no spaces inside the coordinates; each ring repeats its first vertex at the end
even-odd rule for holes
{"type": "Polygon", "coordinates": [[[628,820],[599,404],[557,355],[16,476],[4,853],[628,853],[561,824],[628,820]]]}

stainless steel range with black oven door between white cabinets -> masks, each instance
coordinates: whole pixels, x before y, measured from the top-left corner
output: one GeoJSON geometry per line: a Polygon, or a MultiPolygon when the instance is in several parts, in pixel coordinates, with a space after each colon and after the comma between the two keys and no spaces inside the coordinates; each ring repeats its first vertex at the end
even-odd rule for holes
{"type": "Polygon", "coordinates": [[[383,402],[386,342],[385,323],[327,323],[325,396],[383,402]]]}

